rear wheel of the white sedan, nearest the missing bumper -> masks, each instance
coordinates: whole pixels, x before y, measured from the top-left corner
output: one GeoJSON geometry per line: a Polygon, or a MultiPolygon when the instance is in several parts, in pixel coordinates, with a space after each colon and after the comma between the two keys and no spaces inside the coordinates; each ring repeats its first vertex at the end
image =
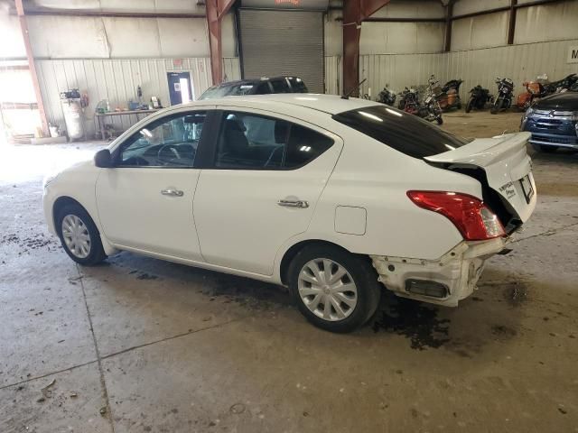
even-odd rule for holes
{"type": "Polygon", "coordinates": [[[289,265],[288,277],[289,289],[298,309],[312,325],[326,331],[347,333],[358,329],[373,317],[381,299],[382,286],[368,258],[348,253],[337,246],[304,247],[289,265]],[[304,277],[318,281],[314,277],[315,267],[320,277],[324,278],[325,264],[331,264],[333,277],[338,272],[345,271],[345,274],[334,282],[338,289],[340,285],[352,283],[354,291],[338,291],[340,295],[333,297],[331,286],[326,285],[322,288],[320,285],[317,290],[312,281],[303,279],[304,277]],[[330,304],[328,309],[323,302],[327,296],[332,298],[328,299],[330,304]],[[340,299],[349,299],[349,302],[346,304],[340,299]],[[313,306],[314,302],[316,303],[313,306]],[[335,308],[335,303],[340,308],[341,316],[343,316],[341,318],[335,308]]]}

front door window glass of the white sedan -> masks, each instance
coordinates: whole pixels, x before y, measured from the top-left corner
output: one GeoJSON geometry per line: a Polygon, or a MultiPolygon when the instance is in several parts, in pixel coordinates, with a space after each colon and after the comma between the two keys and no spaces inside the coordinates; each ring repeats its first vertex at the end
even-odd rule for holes
{"type": "Polygon", "coordinates": [[[192,167],[205,112],[172,115],[147,124],[121,146],[122,167],[192,167]]]}

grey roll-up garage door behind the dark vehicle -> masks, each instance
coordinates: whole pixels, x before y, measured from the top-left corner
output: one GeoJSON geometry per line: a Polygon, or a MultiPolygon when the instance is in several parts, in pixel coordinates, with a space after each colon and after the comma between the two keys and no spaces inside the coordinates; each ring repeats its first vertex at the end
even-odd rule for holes
{"type": "Polygon", "coordinates": [[[321,12],[240,9],[239,23],[244,78],[297,76],[323,93],[321,12]]]}

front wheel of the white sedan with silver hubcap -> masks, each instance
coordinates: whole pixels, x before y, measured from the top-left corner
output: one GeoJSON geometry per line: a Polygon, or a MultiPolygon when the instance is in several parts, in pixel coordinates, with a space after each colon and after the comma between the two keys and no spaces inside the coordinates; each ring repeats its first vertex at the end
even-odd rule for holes
{"type": "Polygon", "coordinates": [[[62,248],[74,262],[92,266],[107,258],[98,228],[84,207],[76,204],[62,207],[56,217],[56,230],[62,248]],[[68,226],[67,233],[63,230],[64,226],[68,226]]]}

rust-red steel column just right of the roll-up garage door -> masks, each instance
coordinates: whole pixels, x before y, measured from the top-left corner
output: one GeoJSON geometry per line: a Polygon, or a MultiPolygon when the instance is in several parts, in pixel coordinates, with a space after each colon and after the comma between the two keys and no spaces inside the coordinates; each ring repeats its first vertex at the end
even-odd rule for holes
{"type": "Polygon", "coordinates": [[[389,0],[344,0],[343,2],[343,92],[359,95],[359,37],[361,22],[389,0]]]}

